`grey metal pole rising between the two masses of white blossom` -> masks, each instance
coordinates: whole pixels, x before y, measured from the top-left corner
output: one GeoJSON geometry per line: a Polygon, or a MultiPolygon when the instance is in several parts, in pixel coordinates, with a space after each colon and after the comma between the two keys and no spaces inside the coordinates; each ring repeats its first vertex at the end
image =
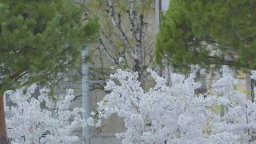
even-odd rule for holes
{"type": "MultiPolygon", "coordinates": [[[[88,119],[90,116],[90,97],[89,97],[89,63],[85,62],[85,57],[88,56],[88,47],[82,50],[82,103],[83,119],[88,119]]],[[[90,144],[90,126],[83,127],[83,143],[90,144]]]]}

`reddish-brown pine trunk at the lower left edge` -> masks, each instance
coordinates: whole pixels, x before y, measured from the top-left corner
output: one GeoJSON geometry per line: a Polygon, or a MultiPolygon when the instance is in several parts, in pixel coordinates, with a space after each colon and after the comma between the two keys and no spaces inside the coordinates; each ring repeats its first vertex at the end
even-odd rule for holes
{"type": "Polygon", "coordinates": [[[0,143],[8,144],[3,102],[4,102],[3,94],[1,94],[0,96],[0,143]]]}

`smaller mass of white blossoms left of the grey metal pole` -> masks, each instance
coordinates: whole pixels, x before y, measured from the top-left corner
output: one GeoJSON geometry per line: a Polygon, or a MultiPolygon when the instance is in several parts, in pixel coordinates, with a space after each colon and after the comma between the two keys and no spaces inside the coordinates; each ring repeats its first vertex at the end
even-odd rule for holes
{"type": "Polygon", "coordinates": [[[14,139],[13,144],[72,143],[78,141],[78,136],[71,136],[71,131],[85,127],[86,124],[100,124],[100,121],[94,121],[92,118],[82,119],[82,108],[68,110],[74,99],[73,89],[68,89],[65,98],[54,103],[53,97],[49,96],[49,88],[40,89],[38,98],[32,97],[35,88],[36,85],[32,85],[29,88],[7,91],[10,99],[16,104],[6,107],[13,113],[12,118],[6,119],[8,137],[14,139]],[[71,116],[74,117],[74,121],[69,123],[67,120],[71,116]],[[50,134],[41,137],[45,132],[50,134]]]}

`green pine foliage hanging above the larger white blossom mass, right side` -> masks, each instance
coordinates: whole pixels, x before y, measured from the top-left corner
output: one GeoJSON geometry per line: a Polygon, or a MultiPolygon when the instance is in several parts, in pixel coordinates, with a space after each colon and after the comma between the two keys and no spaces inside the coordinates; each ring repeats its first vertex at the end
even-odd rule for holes
{"type": "Polygon", "coordinates": [[[161,16],[156,62],[183,72],[191,64],[256,69],[255,21],[250,0],[170,1],[161,16]]]}

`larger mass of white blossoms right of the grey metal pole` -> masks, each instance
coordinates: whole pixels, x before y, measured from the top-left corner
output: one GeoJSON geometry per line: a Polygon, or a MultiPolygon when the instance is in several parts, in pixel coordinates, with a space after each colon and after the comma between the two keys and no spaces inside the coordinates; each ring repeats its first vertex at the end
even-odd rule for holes
{"type": "MultiPolygon", "coordinates": [[[[127,130],[117,134],[123,144],[132,143],[249,143],[256,132],[255,102],[245,94],[229,89],[223,96],[223,86],[240,81],[224,75],[216,82],[210,95],[196,95],[200,83],[191,74],[187,79],[171,75],[172,86],[154,71],[155,86],[144,92],[137,80],[138,73],[117,70],[110,75],[105,89],[111,91],[98,103],[99,117],[118,113],[127,130]],[[119,85],[114,82],[119,81],[119,85]],[[228,111],[220,117],[214,107],[224,105],[228,111]],[[230,123],[228,119],[234,119],[230,123]],[[204,131],[208,127],[210,131],[204,131]],[[208,133],[211,132],[211,133],[208,133]]],[[[232,88],[232,87],[231,87],[232,88]]]]}

